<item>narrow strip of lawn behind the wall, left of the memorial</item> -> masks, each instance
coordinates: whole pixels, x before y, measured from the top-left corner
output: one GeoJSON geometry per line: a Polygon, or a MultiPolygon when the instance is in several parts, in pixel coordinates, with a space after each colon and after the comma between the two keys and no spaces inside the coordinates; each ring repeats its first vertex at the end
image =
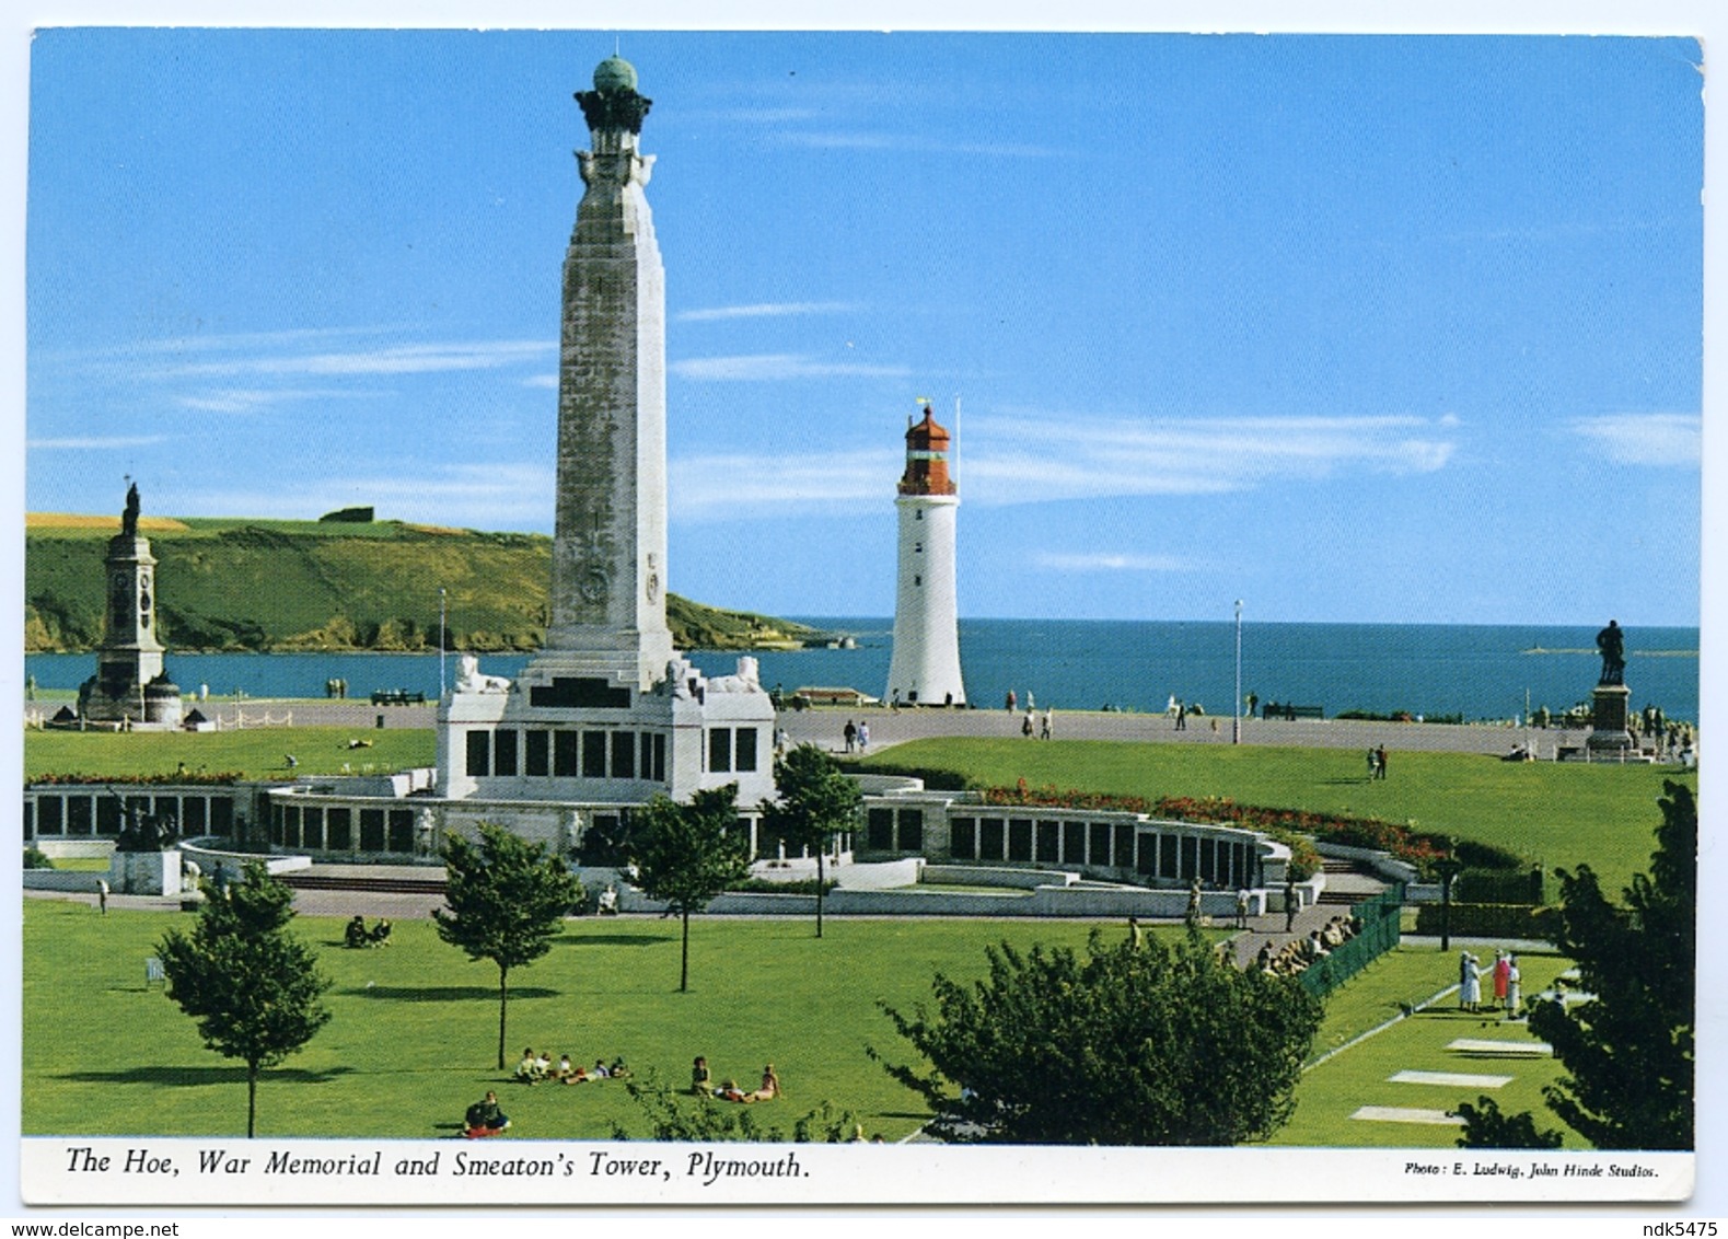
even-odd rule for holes
{"type": "Polygon", "coordinates": [[[339,774],[346,764],[399,771],[432,766],[437,733],[418,728],[266,728],[256,731],[28,731],[24,778],[41,774],[173,774],[188,771],[238,772],[249,779],[289,774],[287,755],[299,760],[295,774],[339,774]],[[372,748],[349,748],[351,740],[372,748]]]}

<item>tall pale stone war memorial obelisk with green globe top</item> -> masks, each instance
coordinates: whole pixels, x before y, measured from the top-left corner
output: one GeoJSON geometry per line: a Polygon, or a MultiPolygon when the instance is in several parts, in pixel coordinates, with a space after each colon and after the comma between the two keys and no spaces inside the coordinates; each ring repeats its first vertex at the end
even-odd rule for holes
{"type": "Polygon", "coordinates": [[[515,683],[463,658],[439,705],[446,821],[562,842],[657,793],[736,781],[741,810],[774,795],[755,658],[707,679],[665,622],[665,271],[639,149],[651,100],[619,57],[575,100],[591,149],[563,261],[546,641],[515,683]]]}

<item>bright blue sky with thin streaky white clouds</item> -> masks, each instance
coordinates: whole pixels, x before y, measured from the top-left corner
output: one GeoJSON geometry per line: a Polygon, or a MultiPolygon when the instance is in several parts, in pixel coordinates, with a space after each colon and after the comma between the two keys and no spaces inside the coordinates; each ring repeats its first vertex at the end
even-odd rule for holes
{"type": "MultiPolygon", "coordinates": [[[[550,531],[613,38],[40,33],[28,506],[550,531]]],[[[928,396],[962,615],[1697,622],[1695,43],[617,38],[672,589],[888,613],[928,396]]]]}

